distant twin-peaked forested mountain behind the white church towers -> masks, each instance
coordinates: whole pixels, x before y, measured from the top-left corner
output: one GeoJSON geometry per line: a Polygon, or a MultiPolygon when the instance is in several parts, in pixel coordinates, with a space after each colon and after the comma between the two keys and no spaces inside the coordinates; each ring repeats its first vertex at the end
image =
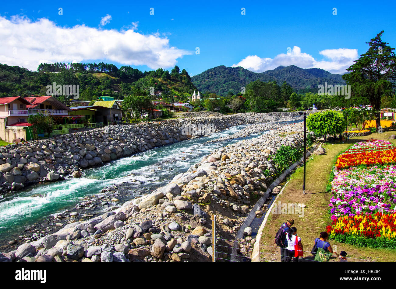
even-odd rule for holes
{"type": "Polygon", "coordinates": [[[284,81],[295,91],[310,89],[315,90],[319,84],[345,84],[340,74],[332,74],[324,69],[299,68],[294,65],[278,66],[273,70],[261,73],[238,67],[226,67],[224,65],[208,69],[198,75],[191,77],[192,83],[202,93],[214,92],[226,96],[232,90],[234,94],[241,91],[251,81],[276,81],[281,85],[284,81]]]}

